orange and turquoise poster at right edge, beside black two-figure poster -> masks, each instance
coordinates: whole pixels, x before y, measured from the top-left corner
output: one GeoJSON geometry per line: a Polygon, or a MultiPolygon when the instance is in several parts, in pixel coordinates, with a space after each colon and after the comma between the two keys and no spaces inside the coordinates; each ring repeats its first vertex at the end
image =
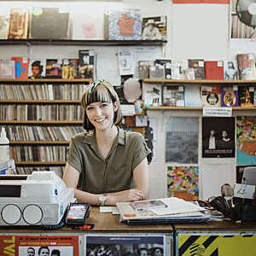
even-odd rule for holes
{"type": "Polygon", "coordinates": [[[256,165],[256,116],[236,117],[236,165],[256,165]]]}

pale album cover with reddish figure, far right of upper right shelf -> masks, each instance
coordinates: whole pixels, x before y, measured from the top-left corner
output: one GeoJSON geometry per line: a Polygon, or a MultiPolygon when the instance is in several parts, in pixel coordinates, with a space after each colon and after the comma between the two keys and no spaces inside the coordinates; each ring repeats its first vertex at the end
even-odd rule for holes
{"type": "Polygon", "coordinates": [[[255,67],[255,55],[241,54],[236,55],[237,66],[239,71],[239,78],[241,80],[255,80],[256,79],[256,67],[255,67]]]}

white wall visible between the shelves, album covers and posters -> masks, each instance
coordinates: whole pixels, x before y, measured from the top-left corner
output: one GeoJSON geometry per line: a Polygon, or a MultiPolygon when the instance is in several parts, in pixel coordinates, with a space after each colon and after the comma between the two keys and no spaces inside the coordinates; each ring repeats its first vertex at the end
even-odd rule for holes
{"type": "MultiPolygon", "coordinates": [[[[79,39],[81,31],[78,26],[79,19],[83,20],[86,14],[98,15],[99,35],[103,33],[102,17],[108,9],[141,9],[143,16],[167,15],[168,19],[168,43],[165,49],[157,48],[159,57],[162,52],[166,57],[183,60],[188,58],[204,58],[205,60],[227,60],[234,58],[236,52],[244,52],[241,44],[231,44],[230,47],[230,7],[227,4],[172,4],[171,0],[158,2],[156,0],[123,0],[120,3],[90,3],[90,2],[0,2],[0,9],[7,6],[61,6],[68,7],[73,13],[73,37],[79,39]],[[77,20],[76,20],[77,19],[77,20]]],[[[251,45],[251,47],[256,47],[251,45]]],[[[14,55],[30,57],[78,57],[79,49],[95,49],[98,54],[98,77],[116,81],[119,77],[117,49],[115,46],[52,46],[37,45],[27,47],[25,45],[0,45],[0,58],[9,58],[14,55]]],[[[251,112],[241,113],[253,114],[251,112]]],[[[201,111],[148,111],[149,116],[160,118],[158,131],[159,159],[150,166],[151,174],[151,198],[166,196],[166,163],[165,163],[165,116],[199,116],[201,111]]],[[[201,124],[201,119],[200,119],[201,124]]],[[[201,129],[200,129],[201,141],[201,129]]],[[[200,169],[200,193],[201,198],[206,199],[211,195],[219,195],[222,183],[234,183],[236,179],[236,159],[212,162],[199,160],[200,169]]]]}

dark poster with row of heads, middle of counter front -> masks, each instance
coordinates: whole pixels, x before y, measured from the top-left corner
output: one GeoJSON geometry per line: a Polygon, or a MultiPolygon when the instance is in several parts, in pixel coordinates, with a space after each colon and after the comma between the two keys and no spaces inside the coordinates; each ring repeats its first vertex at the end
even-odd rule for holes
{"type": "Polygon", "coordinates": [[[85,236],[84,255],[166,255],[165,236],[85,236]]]}

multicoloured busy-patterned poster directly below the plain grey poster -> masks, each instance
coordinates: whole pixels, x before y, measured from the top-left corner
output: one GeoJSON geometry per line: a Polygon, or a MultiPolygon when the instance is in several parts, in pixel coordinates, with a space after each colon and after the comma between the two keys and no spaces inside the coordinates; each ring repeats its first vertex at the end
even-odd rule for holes
{"type": "Polygon", "coordinates": [[[167,196],[198,200],[198,166],[167,166],[167,196]]]}

